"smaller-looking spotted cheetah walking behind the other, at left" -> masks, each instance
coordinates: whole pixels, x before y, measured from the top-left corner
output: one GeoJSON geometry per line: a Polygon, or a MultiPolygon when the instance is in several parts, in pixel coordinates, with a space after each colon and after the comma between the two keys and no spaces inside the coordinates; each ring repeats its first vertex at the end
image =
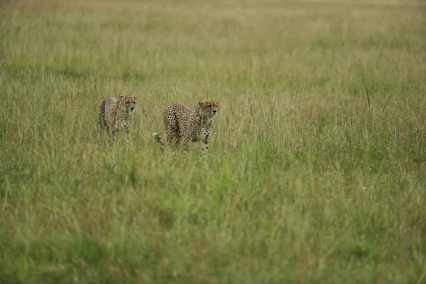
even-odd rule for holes
{"type": "Polygon", "coordinates": [[[136,104],[135,96],[120,96],[119,99],[109,97],[99,106],[99,132],[107,131],[110,138],[115,139],[116,132],[126,130],[129,141],[133,126],[133,113],[136,104]]]}

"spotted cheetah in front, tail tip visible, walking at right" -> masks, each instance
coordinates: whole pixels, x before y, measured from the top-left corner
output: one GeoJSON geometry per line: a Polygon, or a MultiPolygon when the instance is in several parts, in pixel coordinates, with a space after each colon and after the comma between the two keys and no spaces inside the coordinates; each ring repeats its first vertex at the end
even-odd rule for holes
{"type": "MultiPolygon", "coordinates": [[[[197,105],[197,109],[190,109],[190,107],[180,102],[170,104],[164,111],[168,147],[173,148],[173,144],[178,146],[183,138],[183,148],[185,151],[190,151],[190,142],[202,141],[202,155],[206,155],[212,134],[214,116],[216,116],[218,109],[219,104],[213,101],[200,102],[197,105]]],[[[153,137],[158,143],[165,145],[158,133],[154,132],[153,137]]]]}

